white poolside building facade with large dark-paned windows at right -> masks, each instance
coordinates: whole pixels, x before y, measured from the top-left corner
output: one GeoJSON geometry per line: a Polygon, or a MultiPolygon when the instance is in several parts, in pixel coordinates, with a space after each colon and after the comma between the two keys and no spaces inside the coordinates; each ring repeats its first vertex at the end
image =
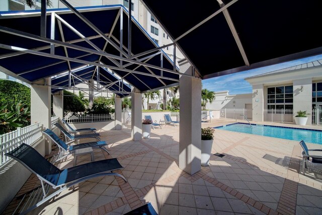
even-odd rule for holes
{"type": "MultiPolygon", "coordinates": [[[[245,79],[253,87],[253,120],[263,121],[264,109],[306,111],[322,108],[322,60],[299,64],[245,79]]],[[[307,125],[312,124],[308,117],[307,125]]]]}

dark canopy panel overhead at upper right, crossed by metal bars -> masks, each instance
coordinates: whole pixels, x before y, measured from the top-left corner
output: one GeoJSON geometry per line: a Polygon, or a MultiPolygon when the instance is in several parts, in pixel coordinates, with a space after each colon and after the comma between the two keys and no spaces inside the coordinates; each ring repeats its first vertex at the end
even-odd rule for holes
{"type": "Polygon", "coordinates": [[[203,79],[322,53],[321,1],[142,1],[203,79]]]}

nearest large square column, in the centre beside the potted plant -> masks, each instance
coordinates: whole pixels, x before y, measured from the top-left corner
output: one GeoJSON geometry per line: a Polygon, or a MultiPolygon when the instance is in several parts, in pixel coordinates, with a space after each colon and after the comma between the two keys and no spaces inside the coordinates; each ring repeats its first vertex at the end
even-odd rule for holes
{"type": "MultiPolygon", "coordinates": [[[[180,73],[192,70],[180,64],[180,73]]],[[[201,170],[201,80],[181,76],[180,92],[179,168],[192,175],[201,170]]]]}

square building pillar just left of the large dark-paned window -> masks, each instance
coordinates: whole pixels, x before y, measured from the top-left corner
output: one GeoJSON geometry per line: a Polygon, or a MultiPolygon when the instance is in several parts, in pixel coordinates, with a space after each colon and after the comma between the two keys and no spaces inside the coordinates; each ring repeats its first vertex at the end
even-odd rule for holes
{"type": "Polygon", "coordinates": [[[263,111],[267,93],[264,92],[264,85],[253,85],[253,121],[263,121],[263,111]]]}

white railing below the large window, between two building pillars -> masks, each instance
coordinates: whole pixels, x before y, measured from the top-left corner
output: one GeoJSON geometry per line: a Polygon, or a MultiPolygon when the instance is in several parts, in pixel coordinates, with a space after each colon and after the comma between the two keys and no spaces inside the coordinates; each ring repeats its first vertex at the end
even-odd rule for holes
{"type": "Polygon", "coordinates": [[[293,122],[293,109],[264,109],[265,122],[293,122]]]}

